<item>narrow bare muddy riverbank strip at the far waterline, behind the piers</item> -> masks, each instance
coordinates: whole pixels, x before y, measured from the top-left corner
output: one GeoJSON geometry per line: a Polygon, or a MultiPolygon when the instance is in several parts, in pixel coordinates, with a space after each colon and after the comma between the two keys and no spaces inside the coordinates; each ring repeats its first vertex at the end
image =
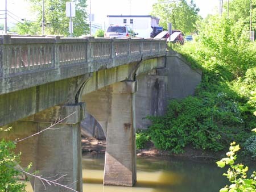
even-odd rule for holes
{"type": "MultiPolygon", "coordinates": [[[[94,137],[82,137],[82,152],[105,153],[106,140],[98,140],[94,137]]],[[[148,142],[146,148],[137,150],[137,156],[154,156],[161,158],[180,157],[189,158],[195,161],[216,161],[225,156],[224,152],[205,152],[187,146],[184,153],[175,154],[168,151],[156,149],[152,142],[148,142]]]]}

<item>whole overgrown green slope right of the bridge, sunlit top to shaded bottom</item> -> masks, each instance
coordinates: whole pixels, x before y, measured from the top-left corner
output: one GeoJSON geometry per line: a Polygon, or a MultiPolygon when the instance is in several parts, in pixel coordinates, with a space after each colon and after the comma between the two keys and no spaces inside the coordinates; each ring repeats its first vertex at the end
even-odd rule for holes
{"type": "Polygon", "coordinates": [[[195,95],[170,101],[166,115],[149,117],[152,126],[137,133],[137,148],[151,140],[172,153],[187,145],[217,152],[236,141],[255,157],[256,44],[243,24],[212,16],[194,41],[173,48],[203,70],[202,82],[195,95]]]}

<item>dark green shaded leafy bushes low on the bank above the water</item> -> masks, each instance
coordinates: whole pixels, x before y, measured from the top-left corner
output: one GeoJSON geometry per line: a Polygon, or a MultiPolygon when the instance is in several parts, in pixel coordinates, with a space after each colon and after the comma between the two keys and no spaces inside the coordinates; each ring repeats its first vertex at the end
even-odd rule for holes
{"type": "Polygon", "coordinates": [[[166,115],[150,118],[152,141],[160,149],[180,153],[188,144],[197,149],[219,151],[229,140],[242,140],[245,133],[236,129],[243,124],[241,111],[229,99],[223,93],[205,92],[200,98],[170,101],[166,115]]]}

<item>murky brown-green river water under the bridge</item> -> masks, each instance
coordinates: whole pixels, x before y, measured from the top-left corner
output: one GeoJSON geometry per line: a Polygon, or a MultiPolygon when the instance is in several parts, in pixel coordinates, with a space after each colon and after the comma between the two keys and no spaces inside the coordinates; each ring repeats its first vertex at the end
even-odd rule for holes
{"type": "MultiPolygon", "coordinates": [[[[104,155],[82,156],[84,192],[216,192],[228,181],[214,162],[137,157],[134,187],[103,186],[104,155]]],[[[28,186],[30,187],[30,186],[28,186]]],[[[32,191],[31,188],[28,191],[32,191]]]]}

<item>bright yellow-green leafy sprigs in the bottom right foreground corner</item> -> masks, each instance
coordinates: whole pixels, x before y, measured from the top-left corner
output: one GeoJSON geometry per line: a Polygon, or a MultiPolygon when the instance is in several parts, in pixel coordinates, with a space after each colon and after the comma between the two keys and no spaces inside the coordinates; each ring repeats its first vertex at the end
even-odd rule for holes
{"type": "Polygon", "coordinates": [[[224,168],[228,165],[230,168],[227,173],[223,175],[226,176],[231,185],[226,185],[220,190],[220,192],[255,192],[256,191],[256,172],[253,172],[250,178],[247,178],[246,172],[249,170],[247,166],[243,164],[235,164],[237,159],[236,152],[240,149],[239,145],[236,143],[231,143],[229,147],[229,152],[226,153],[225,158],[217,161],[217,165],[220,168],[224,168]]]}

